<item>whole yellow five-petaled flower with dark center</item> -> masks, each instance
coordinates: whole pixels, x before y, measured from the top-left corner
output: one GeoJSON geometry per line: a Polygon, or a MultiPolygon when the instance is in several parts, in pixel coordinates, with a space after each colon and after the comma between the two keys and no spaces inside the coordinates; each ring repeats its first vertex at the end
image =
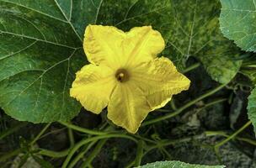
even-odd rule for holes
{"type": "Polygon", "coordinates": [[[93,113],[108,106],[108,118],[131,133],[136,133],[147,113],[189,88],[189,79],[172,61],[157,57],[165,44],[151,26],[123,32],[89,25],[84,36],[83,48],[91,64],[77,72],[70,94],[93,113]]]}

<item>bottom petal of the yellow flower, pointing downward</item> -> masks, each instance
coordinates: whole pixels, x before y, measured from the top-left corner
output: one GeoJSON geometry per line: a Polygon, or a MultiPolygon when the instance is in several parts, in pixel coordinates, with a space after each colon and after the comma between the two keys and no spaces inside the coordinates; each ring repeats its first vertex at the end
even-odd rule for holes
{"type": "Polygon", "coordinates": [[[116,125],[135,134],[150,110],[142,92],[127,81],[115,87],[110,97],[108,118],[116,125]]]}

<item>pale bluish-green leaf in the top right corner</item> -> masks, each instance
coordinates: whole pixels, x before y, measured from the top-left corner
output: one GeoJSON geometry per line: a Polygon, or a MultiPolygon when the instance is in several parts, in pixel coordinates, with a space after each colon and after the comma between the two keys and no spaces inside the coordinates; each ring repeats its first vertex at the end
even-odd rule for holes
{"type": "Polygon", "coordinates": [[[246,51],[256,51],[256,1],[221,0],[221,31],[246,51]]]}

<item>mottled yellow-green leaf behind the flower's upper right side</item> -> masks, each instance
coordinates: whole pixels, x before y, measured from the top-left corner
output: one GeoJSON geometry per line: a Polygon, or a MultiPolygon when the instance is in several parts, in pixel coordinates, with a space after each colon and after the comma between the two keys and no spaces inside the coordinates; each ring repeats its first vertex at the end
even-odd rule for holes
{"type": "Polygon", "coordinates": [[[165,39],[163,55],[180,70],[194,56],[214,80],[227,83],[237,74],[242,61],[235,60],[239,54],[236,45],[221,34],[220,8],[219,0],[106,0],[97,24],[124,30],[152,25],[165,39]]]}

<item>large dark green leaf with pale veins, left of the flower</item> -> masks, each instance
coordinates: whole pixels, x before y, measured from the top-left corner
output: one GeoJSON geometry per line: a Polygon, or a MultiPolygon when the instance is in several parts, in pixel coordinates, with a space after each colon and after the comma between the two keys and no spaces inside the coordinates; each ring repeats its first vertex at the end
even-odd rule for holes
{"type": "Polygon", "coordinates": [[[0,106],[8,115],[33,123],[77,115],[69,88],[86,63],[83,31],[100,3],[0,0],[0,106]]]}

